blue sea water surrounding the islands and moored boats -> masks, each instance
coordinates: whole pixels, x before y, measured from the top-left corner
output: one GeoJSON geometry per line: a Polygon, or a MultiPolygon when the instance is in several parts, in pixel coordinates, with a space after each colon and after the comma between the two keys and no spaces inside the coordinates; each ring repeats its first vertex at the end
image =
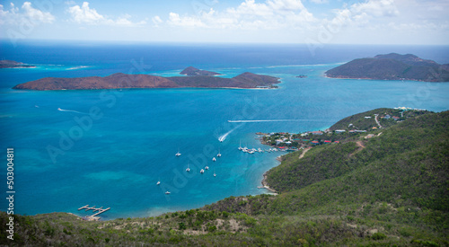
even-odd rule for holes
{"type": "MultiPolygon", "coordinates": [[[[2,58],[38,65],[0,70],[0,150],[6,154],[7,147],[14,148],[14,212],[64,211],[84,216],[77,208],[89,204],[111,207],[104,219],[154,216],[229,196],[265,193],[257,189],[262,173],[278,164],[275,158],[281,153],[238,151],[240,143],[267,148],[260,145],[256,132],[324,129],[348,115],[379,107],[449,109],[449,84],[322,76],[351,59],[390,52],[449,63],[449,47],[326,45],[313,54],[304,45],[36,41],[13,48],[4,41],[2,58]],[[11,89],[47,76],[118,72],[170,76],[187,66],[225,76],[245,71],[275,75],[282,84],[277,90],[11,89]],[[89,115],[92,111],[95,116],[89,115]],[[291,121],[229,123],[232,119],[291,121]],[[220,143],[218,137],[228,132],[220,143]],[[178,149],[182,155],[175,157],[178,149]],[[214,163],[211,159],[218,150],[223,156],[214,163]],[[188,163],[189,173],[185,172],[188,163]],[[199,174],[206,164],[210,170],[199,174]],[[159,180],[161,185],[156,186],[159,180]],[[166,190],[172,194],[166,196],[166,190]]],[[[5,167],[1,181],[6,181],[5,167]]],[[[4,195],[5,191],[4,186],[4,195]]],[[[6,208],[4,200],[0,209],[6,208]]]]}

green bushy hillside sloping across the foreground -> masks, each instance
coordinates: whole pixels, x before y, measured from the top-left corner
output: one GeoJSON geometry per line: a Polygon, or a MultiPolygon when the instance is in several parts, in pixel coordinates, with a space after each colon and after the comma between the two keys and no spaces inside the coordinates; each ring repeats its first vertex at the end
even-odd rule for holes
{"type": "MultiPolygon", "coordinates": [[[[370,112],[347,120],[363,123],[370,112]]],[[[268,176],[277,196],[105,222],[64,213],[14,216],[13,242],[5,238],[2,212],[0,244],[448,246],[449,112],[408,114],[373,130],[372,138],[359,133],[315,146],[301,159],[301,151],[284,155],[268,176]]]]}

